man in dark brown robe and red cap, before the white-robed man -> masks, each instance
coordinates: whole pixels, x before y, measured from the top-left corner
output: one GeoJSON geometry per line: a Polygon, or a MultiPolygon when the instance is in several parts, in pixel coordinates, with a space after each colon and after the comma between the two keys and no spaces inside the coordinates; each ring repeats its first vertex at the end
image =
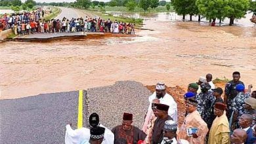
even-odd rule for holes
{"type": "Polygon", "coordinates": [[[154,127],[152,129],[152,141],[151,143],[161,143],[163,141],[163,128],[165,126],[166,120],[173,120],[168,115],[169,105],[161,104],[161,103],[154,103],[153,109],[156,109],[155,115],[156,121],[154,123],[154,127]]]}

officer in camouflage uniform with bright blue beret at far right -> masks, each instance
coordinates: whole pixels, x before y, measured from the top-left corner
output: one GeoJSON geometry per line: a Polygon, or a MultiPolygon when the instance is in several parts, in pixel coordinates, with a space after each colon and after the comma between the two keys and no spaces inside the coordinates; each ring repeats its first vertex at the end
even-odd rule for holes
{"type": "Polygon", "coordinates": [[[237,84],[236,91],[238,92],[238,95],[234,98],[234,101],[232,103],[232,109],[234,111],[232,128],[234,129],[239,128],[238,119],[245,113],[245,99],[251,96],[251,94],[244,92],[243,84],[237,84]]]}

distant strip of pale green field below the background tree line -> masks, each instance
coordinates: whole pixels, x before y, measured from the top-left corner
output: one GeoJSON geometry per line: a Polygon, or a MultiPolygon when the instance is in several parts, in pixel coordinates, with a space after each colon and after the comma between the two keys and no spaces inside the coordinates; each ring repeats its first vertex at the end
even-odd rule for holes
{"type": "MultiPolygon", "coordinates": [[[[140,7],[136,7],[135,10],[129,11],[126,7],[90,7],[88,10],[93,11],[119,11],[119,12],[144,12],[144,10],[140,7]]],[[[170,7],[169,12],[173,11],[173,7],[170,7]]],[[[148,12],[167,12],[167,9],[165,6],[158,6],[156,9],[148,9],[148,12]]]]}

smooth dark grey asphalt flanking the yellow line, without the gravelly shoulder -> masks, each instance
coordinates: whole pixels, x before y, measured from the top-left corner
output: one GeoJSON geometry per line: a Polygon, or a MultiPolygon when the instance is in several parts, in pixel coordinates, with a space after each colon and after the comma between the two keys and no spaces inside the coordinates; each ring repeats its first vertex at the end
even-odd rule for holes
{"type": "MultiPolygon", "coordinates": [[[[1,100],[0,143],[64,143],[66,124],[77,128],[78,95],[74,91],[1,100]]],[[[85,106],[83,126],[87,126],[85,106]]]]}

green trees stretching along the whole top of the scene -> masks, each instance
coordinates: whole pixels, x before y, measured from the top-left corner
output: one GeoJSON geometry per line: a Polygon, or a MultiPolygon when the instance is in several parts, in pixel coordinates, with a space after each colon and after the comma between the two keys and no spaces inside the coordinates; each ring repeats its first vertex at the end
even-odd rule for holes
{"type": "Polygon", "coordinates": [[[230,26],[234,24],[234,19],[244,17],[248,10],[256,14],[255,0],[171,0],[171,4],[164,0],[111,0],[107,3],[91,0],[76,0],[74,3],[35,3],[33,0],[26,0],[25,3],[22,3],[20,0],[0,0],[0,6],[11,6],[14,11],[32,9],[35,5],[83,9],[108,5],[110,7],[127,7],[130,11],[135,10],[136,7],[147,11],[149,8],[155,9],[158,6],[166,6],[169,11],[170,7],[173,6],[175,12],[182,15],[183,19],[187,14],[190,15],[190,20],[192,20],[192,16],[198,15],[198,21],[201,20],[201,16],[209,22],[215,22],[218,19],[220,23],[225,18],[229,18],[230,26]]]}

